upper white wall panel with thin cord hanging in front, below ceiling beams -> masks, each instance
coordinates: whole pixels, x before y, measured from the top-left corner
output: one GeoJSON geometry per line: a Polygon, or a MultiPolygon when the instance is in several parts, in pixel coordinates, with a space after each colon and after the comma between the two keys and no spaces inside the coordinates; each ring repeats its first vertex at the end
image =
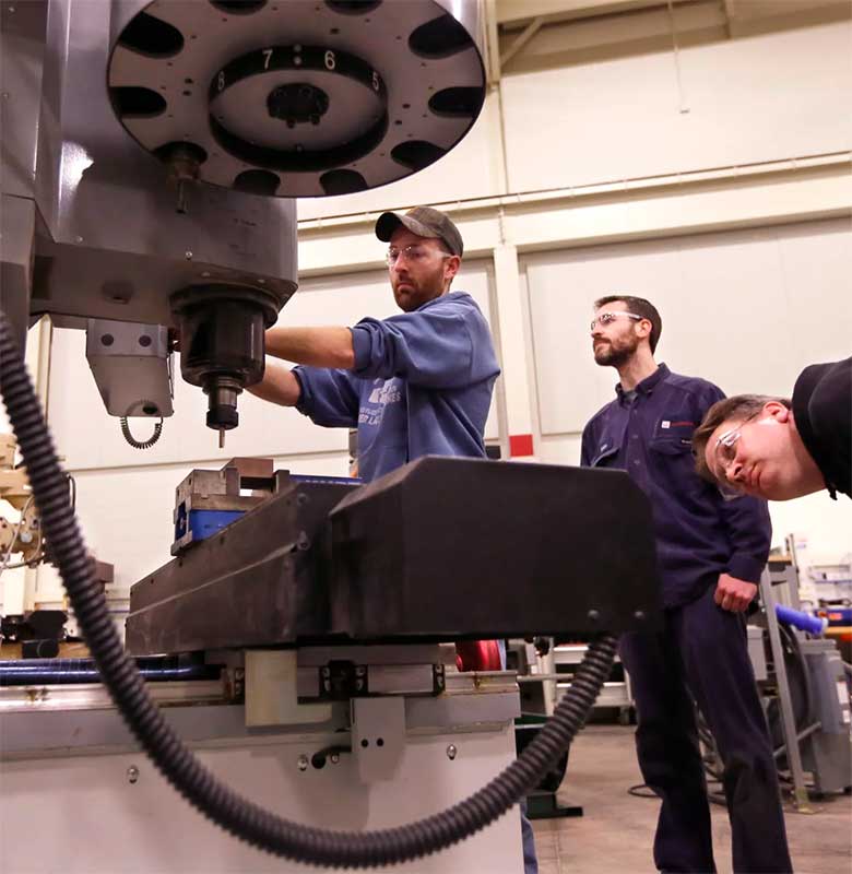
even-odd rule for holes
{"type": "Polygon", "coordinates": [[[510,191],[852,146],[852,24],[505,76],[510,191]]]}

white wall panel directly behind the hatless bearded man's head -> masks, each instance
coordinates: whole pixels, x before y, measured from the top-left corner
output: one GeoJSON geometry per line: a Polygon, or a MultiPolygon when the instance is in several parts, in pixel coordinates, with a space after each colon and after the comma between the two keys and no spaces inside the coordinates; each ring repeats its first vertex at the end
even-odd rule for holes
{"type": "Polygon", "coordinates": [[[594,364],[589,335],[606,294],[652,300],[658,361],[729,394],[790,392],[802,367],[852,343],[844,220],[531,255],[525,269],[544,435],[582,430],[614,397],[617,375],[594,364]]]}

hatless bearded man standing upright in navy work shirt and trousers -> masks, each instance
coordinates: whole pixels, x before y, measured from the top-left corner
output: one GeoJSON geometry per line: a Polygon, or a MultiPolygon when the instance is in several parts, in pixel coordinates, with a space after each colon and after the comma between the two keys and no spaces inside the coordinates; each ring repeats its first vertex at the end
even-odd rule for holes
{"type": "Polygon", "coordinates": [[[714,872],[694,701],[724,764],[737,874],[792,871],[774,758],[748,658],[744,611],[769,553],[766,504],[725,501],[695,471],[691,437],[723,393],[656,365],[662,321],[643,298],[595,303],[594,359],[615,367],[616,399],[587,424],[582,463],[626,470],[651,500],[664,607],[655,633],[622,637],[646,783],[662,799],[654,862],[714,872]]]}

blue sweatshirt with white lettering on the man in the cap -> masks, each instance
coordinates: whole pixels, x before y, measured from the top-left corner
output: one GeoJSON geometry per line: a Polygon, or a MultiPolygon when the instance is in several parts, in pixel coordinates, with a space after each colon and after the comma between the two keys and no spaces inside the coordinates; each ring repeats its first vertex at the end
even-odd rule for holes
{"type": "Polygon", "coordinates": [[[352,370],[295,367],[296,409],[317,425],[358,428],[358,474],[370,482],[421,456],[485,456],[500,374],[475,300],[451,292],[413,312],[362,319],[352,370]]]}

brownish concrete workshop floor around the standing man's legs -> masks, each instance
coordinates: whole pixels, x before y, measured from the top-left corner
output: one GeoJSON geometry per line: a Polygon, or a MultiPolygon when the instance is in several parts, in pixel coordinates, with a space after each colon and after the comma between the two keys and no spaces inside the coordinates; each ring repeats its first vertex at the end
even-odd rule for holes
{"type": "MultiPolygon", "coordinates": [[[[641,783],[634,728],[589,725],[577,737],[559,790],[563,804],[579,804],[579,818],[533,822],[540,874],[653,872],[651,855],[660,803],[627,794],[641,783]]],[[[852,872],[852,796],[833,795],[805,815],[786,807],[786,830],[796,874],[852,872]]],[[[731,874],[726,811],[711,805],[719,874],[731,874]]]]}

